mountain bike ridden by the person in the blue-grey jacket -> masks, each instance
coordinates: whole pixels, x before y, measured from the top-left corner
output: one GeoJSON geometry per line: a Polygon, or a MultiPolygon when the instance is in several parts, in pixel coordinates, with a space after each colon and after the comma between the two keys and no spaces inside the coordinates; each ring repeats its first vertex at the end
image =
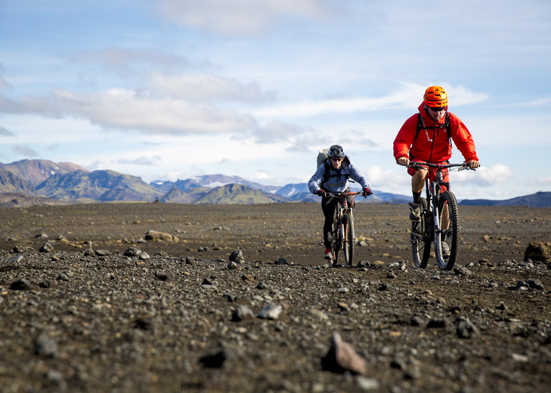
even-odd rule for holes
{"type": "Polygon", "coordinates": [[[331,229],[331,236],[333,237],[333,244],[331,244],[333,265],[337,264],[341,250],[344,256],[344,266],[352,266],[353,264],[355,246],[354,216],[352,213],[353,208],[349,205],[349,200],[347,198],[352,197],[353,200],[356,195],[360,194],[362,193],[327,193],[328,197],[338,198],[339,200],[335,209],[333,227],[331,229]]]}

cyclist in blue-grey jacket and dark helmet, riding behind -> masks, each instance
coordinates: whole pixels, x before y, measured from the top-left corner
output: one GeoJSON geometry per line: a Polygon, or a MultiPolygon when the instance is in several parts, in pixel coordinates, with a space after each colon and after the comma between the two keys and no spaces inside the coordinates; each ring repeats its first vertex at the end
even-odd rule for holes
{"type": "MultiPolygon", "coordinates": [[[[337,207],[338,198],[328,197],[327,193],[343,193],[350,191],[349,178],[362,186],[364,197],[371,195],[371,186],[367,178],[357,169],[344,154],[340,145],[329,147],[329,158],[318,167],[308,182],[310,192],[322,197],[322,211],[325,216],[323,224],[323,243],[325,259],[333,259],[331,253],[331,226],[337,207]]],[[[349,197],[349,206],[353,206],[354,198],[349,197]]]]}

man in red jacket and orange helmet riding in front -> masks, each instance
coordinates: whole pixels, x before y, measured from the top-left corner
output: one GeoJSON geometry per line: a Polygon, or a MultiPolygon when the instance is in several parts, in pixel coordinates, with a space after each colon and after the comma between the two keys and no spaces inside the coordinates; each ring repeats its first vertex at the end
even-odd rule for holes
{"type": "MultiPolygon", "coordinates": [[[[419,105],[419,114],[406,120],[394,140],[394,157],[396,163],[407,167],[411,161],[417,162],[447,162],[452,156],[451,141],[465,158],[470,168],[480,166],[475,142],[469,130],[455,114],[448,111],[448,94],[439,86],[430,86],[426,89],[423,102],[419,105]],[[449,118],[449,126],[446,127],[449,118]],[[417,125],[419,123],[420,126],[417,125]],[[448,136],[448,129],[450,135],[448,136]]],[[[425,179],[434,178],[434,171],[428,169],[408,168],[413,191],[413,203],[409,204],[410,219],[418,222],[421,219],[421,205],[419,198],[424,188],[425,179]]],[[[448,171],[444,173],[444,181],[448,182],[448,171]]]]}

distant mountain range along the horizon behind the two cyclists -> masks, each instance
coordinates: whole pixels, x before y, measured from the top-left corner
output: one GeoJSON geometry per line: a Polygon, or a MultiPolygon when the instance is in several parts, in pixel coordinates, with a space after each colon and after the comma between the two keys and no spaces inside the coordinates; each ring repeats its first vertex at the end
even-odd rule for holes
{"type": "MultiPolygon", "coordinates": [[[[320,201],[320,197],[310,193],[306,183],[276,187],[218,174],[147,184],[141,178],[124,173],[88,171],[71,162],[48,160],[0,164],[0,194],[0,206],[112,201],[186,204],[320,201]]],[[[357,202],[402,204],[410,200],[410,196],[374,190],[371,198],[358,198],[357,202]]],[[[551,193],[541,192],[506,201],[464,200],[460,204],[551,207],[551,193]]]]}

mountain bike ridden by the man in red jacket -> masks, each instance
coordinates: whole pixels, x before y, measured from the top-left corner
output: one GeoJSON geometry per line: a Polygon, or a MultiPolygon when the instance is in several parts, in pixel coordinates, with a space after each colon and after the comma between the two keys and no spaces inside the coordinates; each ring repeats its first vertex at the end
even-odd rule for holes
{"type": "Polygon", "coordinates": [[[426,198],[419,200],[421,220],[411,224],[413,263],[418,268],[426,268],[430,257],[430,243],[433,242],[438,267],[441,270],[452,270],[459,252],[459,210],[450,182],[444,182],[444,169],[457,168],[457,171],[462,171],[470,168],[466,163],[428,162],[410,162],[408,167],[417,170],[428,167],[429,171],[435,171],[433,181],[429,180],[430,176],[425,180],[426,198]]]}

